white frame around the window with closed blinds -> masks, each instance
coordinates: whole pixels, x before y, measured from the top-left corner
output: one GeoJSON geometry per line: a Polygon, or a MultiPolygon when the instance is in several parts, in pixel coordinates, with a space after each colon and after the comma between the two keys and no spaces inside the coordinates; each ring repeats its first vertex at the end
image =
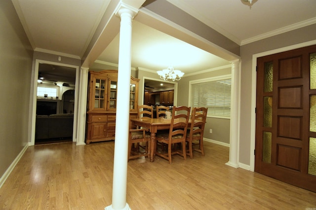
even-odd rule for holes
{"type": "MultiPolygon", "coordinates": [[[[207,105],[207,104],[193,104],[193,99],[192,99],[192,85],[194,84],[199,84],[199,83],[208,83],[208,82],[214,82],[214,81],[223,81],[223,80],[228,80],[228,79],[232,79],[232,75],[231,74],[227,74],[227,75],[222,75],[222,76],[217,76],[217,77],[209,77],[209,78],[204,78],[204,79],[199,79],[199,80],[192,80],[189,82],[189,106],[191,107],[208,107],[208,111],[207,111],[207,117],[209,118],[222,118],[222,119],[231,119],[231,92],[230,92],[230,100],[229,100],[229,116],[226,115],[212,115],[212,109],[211,109],[211,105],[207,105]]],[[[207,103],[207,102],[206,102],[207,103]]],[[[225,112],[224,112],[225,113],[225,112]]]]}

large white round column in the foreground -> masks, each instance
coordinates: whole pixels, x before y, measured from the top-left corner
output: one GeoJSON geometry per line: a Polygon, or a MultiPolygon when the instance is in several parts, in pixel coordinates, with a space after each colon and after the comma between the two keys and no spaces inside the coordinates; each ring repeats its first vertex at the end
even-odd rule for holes
{"type": "Polygon", "coordinates": [[[129,130],[129,98],[132,18],[137,13],[123,5],[118,9],[120,16],[118,55],[118,95],[115,129],[112,205],[106,210],[128,210],[126,203],[127,151],[129,130]]]}

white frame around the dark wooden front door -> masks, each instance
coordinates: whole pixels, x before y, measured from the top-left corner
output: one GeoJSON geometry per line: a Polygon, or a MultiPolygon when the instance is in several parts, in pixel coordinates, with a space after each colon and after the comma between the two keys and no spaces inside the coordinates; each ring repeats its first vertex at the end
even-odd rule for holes
{"type": "Polygon", "coordinates": [[[311,45],[315,45],[316,40],[303,42],[300,44],[290,45],[287,47],[282,47],[258,54],[252,55],[252,83],[251,83],[251,123],[250,123],[250,171],[254,172],[255,170],[255,145],[256,145],[256,91],[257,91],[257,58],[269,56],[276,53],[282,53],[302,47],[308,47],[311,45]]]}

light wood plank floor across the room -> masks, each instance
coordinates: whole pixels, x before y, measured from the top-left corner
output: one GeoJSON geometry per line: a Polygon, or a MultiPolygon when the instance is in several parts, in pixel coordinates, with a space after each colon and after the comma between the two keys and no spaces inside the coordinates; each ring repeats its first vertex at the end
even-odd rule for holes
{"type": "MultiPolygon", "coordinates": [[[[172,164],[128,162],[132,210],[316,210],[316,193],[225,165],[229,149],[172,164]]],[[[112,203],[114,142],[29,147],[0,189],[1,210],[104,210],[112,203]]]]}

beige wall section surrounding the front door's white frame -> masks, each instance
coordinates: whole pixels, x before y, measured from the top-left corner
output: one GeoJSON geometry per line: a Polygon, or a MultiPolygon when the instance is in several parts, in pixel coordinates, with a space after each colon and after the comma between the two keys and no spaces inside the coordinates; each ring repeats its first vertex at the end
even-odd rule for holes
{"type": "Polygon", "coordinates": [[[241,94],[240,94],[240,144],[239,162],[250,164],[251,141],[251,90],[252,90],[252,55],[300,44],[316,39],[316,24],[283,34],[272,36],[240,47],[241,56],[241,94]]]}

